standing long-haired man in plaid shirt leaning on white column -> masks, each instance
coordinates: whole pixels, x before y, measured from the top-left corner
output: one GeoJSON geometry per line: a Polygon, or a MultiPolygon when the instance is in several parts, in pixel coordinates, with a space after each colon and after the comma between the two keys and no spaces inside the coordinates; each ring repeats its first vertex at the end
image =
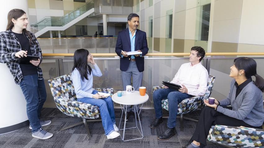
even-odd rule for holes
{"type": "Polygon", "coordinates": [[[15,83],[20,85],[26,99],[26,111],[30,122],[32,136],[39,139],[48,139],[53,136],[42,126],[51,124],[50,120],[40,120],[40,112],[46,101],[46,89],[42,70],[39,64],[42,53],[39,42],[32,32],[26,30],[28,21],[25,11],[12,9],[7,15],[7,29],[0,33],[0,62],[6,63],[15,83]],[[18,63],[27,55],[38,56],[38,60],[30,63],[18,63]]]}

